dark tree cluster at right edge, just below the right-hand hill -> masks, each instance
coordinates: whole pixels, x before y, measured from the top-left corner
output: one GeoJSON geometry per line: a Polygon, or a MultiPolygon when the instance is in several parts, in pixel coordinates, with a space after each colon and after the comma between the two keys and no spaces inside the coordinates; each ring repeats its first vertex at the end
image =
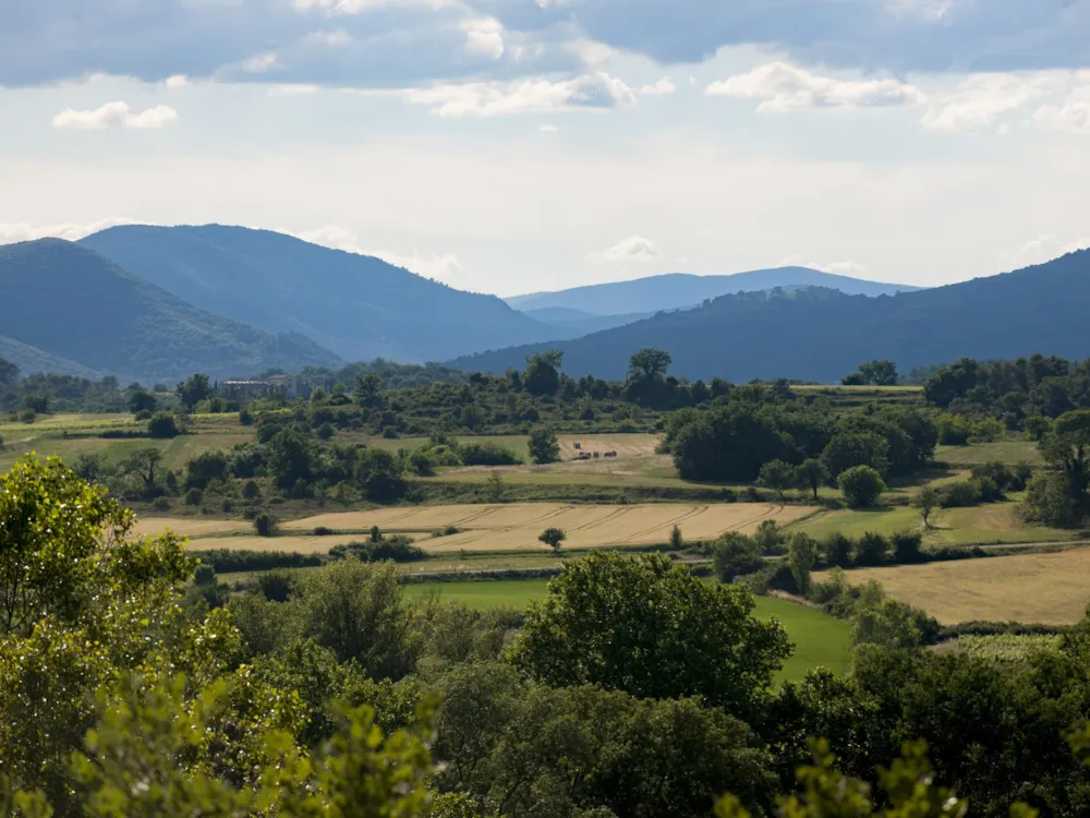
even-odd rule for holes
{"type": "Polygon", "coordinates": [[[1041,354],[992,362],[962,358],[924,381],[923,394],[950,412],[989,416],[1021,429],[1032,418],[1090,408],[1090,361],[1041,354]]]}

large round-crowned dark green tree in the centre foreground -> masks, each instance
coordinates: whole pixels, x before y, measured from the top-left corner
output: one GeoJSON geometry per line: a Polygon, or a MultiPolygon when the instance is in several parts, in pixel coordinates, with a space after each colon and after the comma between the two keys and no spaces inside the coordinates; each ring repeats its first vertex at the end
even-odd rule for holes
{"type": "Polygon", "coordinates": [[[511,660],[556,687],[702,696],[752,719],[791,653],[783,626],[752,614],[744,588],[710,586],[659,555],[597,553],[564,566],[526,614],[511,660]]]}

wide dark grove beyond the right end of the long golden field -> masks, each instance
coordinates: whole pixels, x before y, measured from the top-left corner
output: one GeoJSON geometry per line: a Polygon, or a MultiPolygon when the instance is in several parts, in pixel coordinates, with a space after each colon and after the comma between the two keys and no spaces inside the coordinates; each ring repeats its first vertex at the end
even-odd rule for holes
{"type": "Polygon", "coordinates": [[[934,455],[937,431],[929,412],[886,408],[836,416],[773,389],[754,393],[758,388],[738,387],[710,409],[669,417],[664,447],[682,478],[749,483],[763,477],[777,490],[816,491],[858,466],[883,477],[904,474],[934,455]],[[782,465],[767,467],[776,461],[782,465]]]}

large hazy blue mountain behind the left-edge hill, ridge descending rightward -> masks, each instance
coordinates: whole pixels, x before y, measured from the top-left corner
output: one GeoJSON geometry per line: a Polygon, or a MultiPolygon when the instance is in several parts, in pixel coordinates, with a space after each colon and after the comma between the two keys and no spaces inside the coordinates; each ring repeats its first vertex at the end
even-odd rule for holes
{"type": "Polygon", "coordinates": [[[552,335],[495,296],[268,230],[124,226],[81,244],[196,306],[350,360],[438,361],[552,335]]]}

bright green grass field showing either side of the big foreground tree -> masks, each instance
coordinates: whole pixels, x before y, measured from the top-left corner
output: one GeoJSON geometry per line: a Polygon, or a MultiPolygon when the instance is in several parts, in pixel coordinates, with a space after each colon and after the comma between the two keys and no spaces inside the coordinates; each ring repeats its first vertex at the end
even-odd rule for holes
{"type": "MultiPolygon", "coordinates": [[[[412,584],[405,586],[405,592],[416,599],[436,593],[440,600],[462,602],[477,610],[523,609],[543,599],[547,586],[546,579],[412,584]]],[[[778,681],[796,682],[819,666],[837,673],[847,671],[851,661],[851,626],[847,622],[774,597],[758,597],[755,613],[762,619],[778,617],[795,642],[795,655],[784,663],[778,681]]]]}

